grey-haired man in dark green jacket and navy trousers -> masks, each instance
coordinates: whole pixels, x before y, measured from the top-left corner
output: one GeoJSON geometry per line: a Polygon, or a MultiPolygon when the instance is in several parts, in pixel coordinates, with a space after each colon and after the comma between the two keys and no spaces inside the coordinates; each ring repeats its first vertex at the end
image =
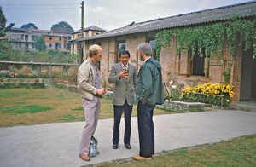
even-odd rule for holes
{"type": "Polygon", "coordinates": [[[151,58],[152,48],[149,43],[140,43],[137,47],[144,63],[137,77],[136,102],[140,153],[133,158],[150,160],[154,155],[153,110],[156,104],[164,103],[161,66],[151,58]]]}

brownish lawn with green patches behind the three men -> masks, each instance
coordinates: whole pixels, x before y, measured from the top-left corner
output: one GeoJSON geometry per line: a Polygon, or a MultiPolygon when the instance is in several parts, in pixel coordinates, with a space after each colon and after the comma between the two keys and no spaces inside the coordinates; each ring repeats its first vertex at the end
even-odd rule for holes
{"type": "MultiPolygon", "coordinates": [[[[160,109],[154,115],[168,114],[160,109]]],[[[132,116],[137,116],[137,106],[132,116]]],[[[113,118],[112,101],[102,99],[99,118],[113,118]]],[[[0,89],[0,127],[84,121],[78,93],[67,89],[0,89]]]]}

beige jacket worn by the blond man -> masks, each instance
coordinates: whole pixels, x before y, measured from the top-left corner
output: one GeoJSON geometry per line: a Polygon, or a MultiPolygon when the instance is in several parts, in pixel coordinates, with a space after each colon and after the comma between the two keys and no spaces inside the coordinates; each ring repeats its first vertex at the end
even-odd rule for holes
{"type": "Polygon", "coordinates": [[[95,72],[92,66],[92,60],[87,59],[79,66],[78,72],[78,89],[82,98],[92,100],[96,95],[97,89],[95,84],[95,72]]]}

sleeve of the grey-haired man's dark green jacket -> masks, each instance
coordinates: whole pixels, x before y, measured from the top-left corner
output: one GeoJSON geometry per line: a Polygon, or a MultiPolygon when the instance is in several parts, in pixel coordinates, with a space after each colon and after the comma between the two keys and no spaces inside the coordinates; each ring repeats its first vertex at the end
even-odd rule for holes
{"type": "Polygon", "coordinates": [[[143,66],[143,70],[140,74],[142,76],[142,93],[140,95],[140,101],[146,103],[151,92],[152,87],[152,74],[149,66],[143,66]]]}

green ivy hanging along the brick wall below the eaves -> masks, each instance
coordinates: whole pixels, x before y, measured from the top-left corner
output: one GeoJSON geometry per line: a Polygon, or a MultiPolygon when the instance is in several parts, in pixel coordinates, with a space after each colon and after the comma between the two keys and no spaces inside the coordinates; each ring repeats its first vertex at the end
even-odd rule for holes
{"type": "Polygon", "coordinates": [[[195,50],[199,55],[222,55],[224,39],[229,42],[230,54],[236,55],[236,44],[244,43],[244,50],[253,48],[253,58],[256,58],[256,20],[237,19],[233,17],[228,22],[218,22],[211,25],[166,29],[156,34],[155,49],[156,59],[160,60],[161,48],[171,45],[171,37],[177,40],[177,55],[183,49],[191,50],[191,59],[195,50]]]}

